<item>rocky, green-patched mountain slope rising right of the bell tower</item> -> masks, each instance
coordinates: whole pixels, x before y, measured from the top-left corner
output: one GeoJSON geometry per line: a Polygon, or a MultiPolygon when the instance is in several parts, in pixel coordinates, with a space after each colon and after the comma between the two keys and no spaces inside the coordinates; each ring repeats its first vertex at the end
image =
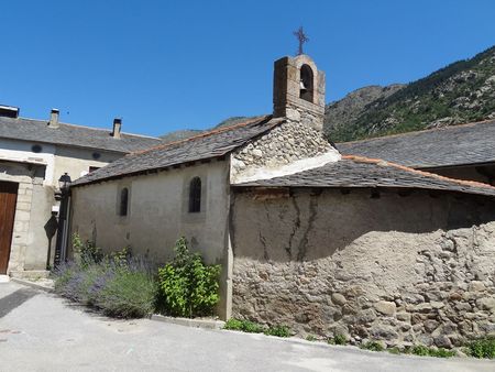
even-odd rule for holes
{"type": "Polygon", "coordinates": [[[407,85],[358,89],[326,108],[333,142],[495,118],[495,46],[407,85]]]}

